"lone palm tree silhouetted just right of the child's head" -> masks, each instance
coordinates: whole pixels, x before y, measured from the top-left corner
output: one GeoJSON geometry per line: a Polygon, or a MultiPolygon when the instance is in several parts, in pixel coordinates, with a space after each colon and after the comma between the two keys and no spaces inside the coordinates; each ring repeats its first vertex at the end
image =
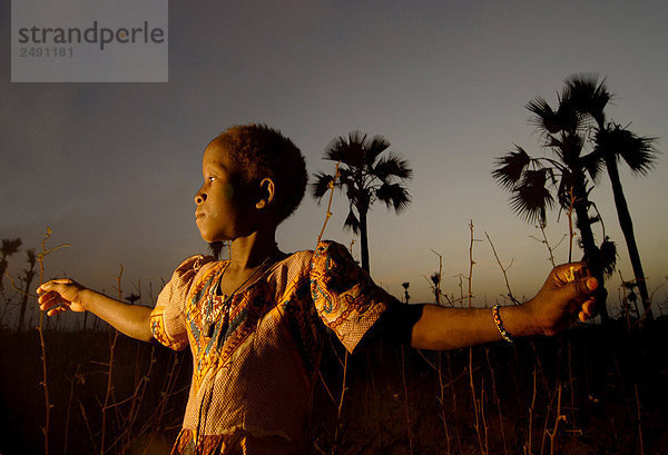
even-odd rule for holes
{"type": "Polygon", "coordinates": [[[324,159],[340,161],[338,178],[318,171],[314,175],[315,182],[311,184],[311,195],[318,201],[334,185],[345,188],[350,211],[344,228],[360,235],[362,268],[369,271],[369,226],[366,215],[371,206],[381,201],[401,214],[411,202],[411,197],[403,185],[413,176],[409,164],[400,156],[387,152],[390,142],[382,136],[369,139],[366,133],[352,131],[347,138],[334,138],[325,148],[324,159]]]}

